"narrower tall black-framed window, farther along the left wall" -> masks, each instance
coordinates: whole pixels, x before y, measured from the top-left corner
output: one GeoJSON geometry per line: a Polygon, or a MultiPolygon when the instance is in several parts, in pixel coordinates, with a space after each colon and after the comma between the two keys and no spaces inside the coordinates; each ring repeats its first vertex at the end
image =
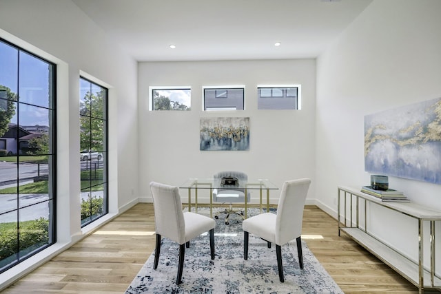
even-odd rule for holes
{"type": "Polygon", "coordinates": [[[108,211],[107,92],[80,78],[81,227],[108,211]]]}

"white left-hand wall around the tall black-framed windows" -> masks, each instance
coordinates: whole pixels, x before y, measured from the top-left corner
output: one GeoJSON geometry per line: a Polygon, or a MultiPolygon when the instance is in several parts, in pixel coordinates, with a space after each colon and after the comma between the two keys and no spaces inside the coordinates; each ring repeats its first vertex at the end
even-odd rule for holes
{"type": "MultiPolygon", "coordinates": [[[[109,87],[110,215],[137,201],[137,63],[70,0],[0,0],[0,37],[57,64],[58,244],[0,275],[0,285],[82,238],[79,75],[109,87]]],[[[104,220],[105,218],[103,218],[104,220]]],[[[99,222],[103,221],[100,220],[99,222]]]]}

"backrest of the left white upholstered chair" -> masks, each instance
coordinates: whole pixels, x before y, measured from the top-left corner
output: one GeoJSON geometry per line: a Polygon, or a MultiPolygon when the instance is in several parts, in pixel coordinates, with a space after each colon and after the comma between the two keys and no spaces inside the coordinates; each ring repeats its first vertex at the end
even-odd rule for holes
{"type": "Polygon", "coordinates": [[[185,220],[178,187],[150,182],[153,196],[156,233],[177,242],[185,243],[185,220]]]}

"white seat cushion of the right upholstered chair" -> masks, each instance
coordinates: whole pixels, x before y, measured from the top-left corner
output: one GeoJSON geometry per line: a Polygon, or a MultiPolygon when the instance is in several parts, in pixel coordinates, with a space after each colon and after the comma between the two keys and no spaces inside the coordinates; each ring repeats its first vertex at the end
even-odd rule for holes
{"type": "Polygon", "coordinates": [[[276,242],[276,214],[262,213],[257,216],[247,218],[242,222],[243,231],[247,231],[252,235],[258,235],[271,243],[276,242]]]}

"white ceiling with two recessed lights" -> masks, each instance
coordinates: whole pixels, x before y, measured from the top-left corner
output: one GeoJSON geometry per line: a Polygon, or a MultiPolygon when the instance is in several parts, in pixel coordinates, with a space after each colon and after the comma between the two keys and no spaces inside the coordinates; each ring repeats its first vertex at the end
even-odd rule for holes
{"type": "Polygon", "coordinates": [[[371,0],[72,0],[137,61],[317,57],[371,0]],[[274,43],[281,42],[279,47],[274,43]],[[169,45],[176,45],[170,49],[169,45]]]}

